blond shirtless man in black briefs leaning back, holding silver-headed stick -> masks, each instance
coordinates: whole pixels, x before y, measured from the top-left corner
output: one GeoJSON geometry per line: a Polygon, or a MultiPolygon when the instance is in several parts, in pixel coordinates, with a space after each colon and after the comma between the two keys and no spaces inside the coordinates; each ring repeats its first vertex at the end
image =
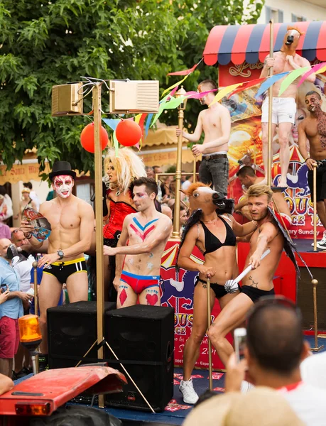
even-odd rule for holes
{"type": "Polygon", "coordinates": [[[258,228],[251,236],[244,268],[251,264],[253,269],[242,279],[241,293],[224,307],[208,330],[208,337],[224,365],[234,351],[225,338],[227,333],[244,322],[246,312],[260,297],[275,294],[273,276],[284,247],[283,235],[268,212],[268,206],[273,206],[273,192],[266,185],[252,185],[247,195],[249,212],[258,228]],[[266,249],[270,249],[271,253],[260,261],[266,249]]]}

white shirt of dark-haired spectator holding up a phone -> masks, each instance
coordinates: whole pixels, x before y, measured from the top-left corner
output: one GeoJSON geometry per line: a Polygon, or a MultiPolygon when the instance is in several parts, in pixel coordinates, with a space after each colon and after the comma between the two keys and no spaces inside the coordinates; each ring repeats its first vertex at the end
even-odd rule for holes
{"type": "Polygon", "coordinates": [[[307,426],[325,426],[326,391],[310,386],[307,383],[297,383],[278,390],[292,407],[293,411],[307,426]]]}

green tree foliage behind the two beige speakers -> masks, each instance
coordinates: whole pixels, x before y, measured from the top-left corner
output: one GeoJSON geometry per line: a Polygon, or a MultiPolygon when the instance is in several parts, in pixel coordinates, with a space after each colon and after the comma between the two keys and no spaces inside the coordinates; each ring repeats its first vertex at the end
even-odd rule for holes
{"type": "MultiPolygon", "coordinates": [[[[0,152],[10,168],[36,147],[45,158],[70,160],[91,170],[93,157],[80,146],[87,117],[51,117],[55,84],[103,79],[160,80],[162,90],[179,77],[168,72],[192,67],[202,57],[214,25],[254,23],[263,0],[3,0],[0,2],[0,152]]],[[[217,78],[200,64],[185,88],[217,78]]],[[[195,124],[198,102],[188,103],[195,124]],[[190,109],[191,107],[191,109],[190,109]]],[[[85,111],[92,109],[90,97],[85,111]]],[[[103,90],[103,110],[108,93],[103,90]]],[[[168,111],[163,121],[175,124],[168,111]]]]}

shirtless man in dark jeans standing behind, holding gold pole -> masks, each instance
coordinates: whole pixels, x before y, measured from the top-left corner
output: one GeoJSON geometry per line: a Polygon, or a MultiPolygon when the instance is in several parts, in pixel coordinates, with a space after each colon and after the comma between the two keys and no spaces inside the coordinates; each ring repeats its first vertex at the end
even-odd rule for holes
{"type": "MultiPolygon", "coordinates": [[[[217,89],[217,84],[213,80],[204,80],[198,86],[200,92],[217,89]]],[[[192,153],[197,156],[202,154],[202,162],[199,168],[199,180],[202,183],[213,184],[214,190],[221,195],[227,196],[227,181],[229,179],[229,137],[231,131],[231,117],[229,110],[219,102],[213,102],[215,92],[210,92],[200,99],[202,105],[207,105],[208,109],[201,111],[198,116],[197,126],[194,133],[183,131],[183,138],[190,142],[200,140],[202,131],[205,133],[202,145],[192,146],[192,153]]],[[[181,129],[177,129],[177,136],[181,134],[181,129]]]]}

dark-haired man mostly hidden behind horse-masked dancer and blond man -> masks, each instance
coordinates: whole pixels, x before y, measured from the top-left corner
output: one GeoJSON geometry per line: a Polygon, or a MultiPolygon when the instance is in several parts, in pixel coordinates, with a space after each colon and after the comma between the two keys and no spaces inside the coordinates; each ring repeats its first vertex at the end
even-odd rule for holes
{"type": "MultiPolygon", "coordinates": [[[[237,173],[237,177],[239,178],[239,181],[241,182],[244,190],[248,190],[249,187],[251,187],[252,185],[257,185],[263,180],[263,178],[258,178],[255,175],[254,170],[252,170],[252,168],[248,165],[245,165],[239,170],[239,172],[237,173]]],[[[281,223],[283,228],[286,227],[286,229],[289,229],[292,225],[292,217],[290,209],[288,207],[288,203],[286,202],[282,192],[273,192],[273,204],[275,207],[275,214],[279,222],[281,223]]],[[[252,219],[251,214],[249,212],[248,198],[246,197],[246,195],[241,201],[238,202],[238,204],[234,206],[234,210],[236,212],[240,212],[242,216],[246,217],[246,219],[252,219]]]]}

